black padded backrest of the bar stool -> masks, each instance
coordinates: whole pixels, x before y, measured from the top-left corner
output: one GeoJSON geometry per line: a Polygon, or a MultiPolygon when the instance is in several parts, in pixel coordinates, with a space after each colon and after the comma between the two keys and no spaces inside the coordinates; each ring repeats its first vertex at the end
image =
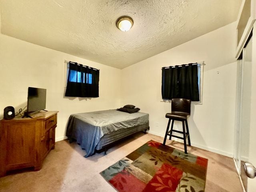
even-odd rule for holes
{"type": "Polygon", "coordinates": [[[172,112],[183,112],[190,114],[190,99],[173,98],[172,99],[172,112]]]}

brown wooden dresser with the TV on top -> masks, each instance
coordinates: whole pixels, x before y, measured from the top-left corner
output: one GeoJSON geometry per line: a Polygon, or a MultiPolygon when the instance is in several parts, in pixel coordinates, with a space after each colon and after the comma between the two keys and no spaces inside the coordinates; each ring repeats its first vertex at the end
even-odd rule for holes
{"type": "Polygon", "coordinates": [[[0,120],[0,177],[9,170],[40,170],[55,146],[58,111],[41,111],[32,118],[0,120]]]}

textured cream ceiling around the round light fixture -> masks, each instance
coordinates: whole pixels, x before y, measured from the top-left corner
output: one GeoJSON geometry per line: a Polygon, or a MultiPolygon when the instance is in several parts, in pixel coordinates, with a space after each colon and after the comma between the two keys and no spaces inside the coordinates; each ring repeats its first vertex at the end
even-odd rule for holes
{"type": "Polygon", "coordinates": [[[242,0],[0,0],[1,32],[125,68],[236,21],[242,0]],[[128,32],[116,19],[128,15],[128,32]]]}

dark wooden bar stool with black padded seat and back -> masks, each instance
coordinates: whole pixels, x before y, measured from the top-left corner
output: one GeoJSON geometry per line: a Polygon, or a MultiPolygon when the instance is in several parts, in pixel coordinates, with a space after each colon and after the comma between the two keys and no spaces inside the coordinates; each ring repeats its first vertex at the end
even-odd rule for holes
{"type": "Polygon", "coordinates": [[[191,106],[191,101],[189,99],[173,98],[172,99],[172,112],[166,113],[166,115],[165,115],[166,118],[169,118],[169,121],[168,121],[168,125],[166,128],[163,145],[165,145],[165,143],[166,143],[167,136],[170,136],[169,140],[171,140],[172,137],[182,139],[182,140],[184,140],[184,152],[186,154],[188,154],[186,137],[188,137],[188,145],[191,146],[190,136],[189,136],[189,131],[188,131],[188,121],[187,121],[187,118],[190,116],[190,106],[191,106]],[[171,126],[171,130],[169,131],[171,120],[172,120],[172,126],[171,126]],[[183,131],[173,130],[173,125],[174,125],[175,120],[182,122],[183,131]],[[185,130],[185,125],[184,125],[185,123],[186,123],[186,130],[185,130]],[[183,134],[183,137],[173,135],[172,132],[177,132],[177,133],[183,134]]]}

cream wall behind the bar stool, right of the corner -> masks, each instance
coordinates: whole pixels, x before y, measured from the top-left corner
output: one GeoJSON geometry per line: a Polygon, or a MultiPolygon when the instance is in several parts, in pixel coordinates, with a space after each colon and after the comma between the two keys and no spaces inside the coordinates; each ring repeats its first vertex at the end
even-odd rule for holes
{"type": "MultiPolygon", "coordinates": [[[[192,146],[233,156],[236,25],[229,24],[122,70],[122,105],[150,115],[150,133],[164,136],[171,104],[161,102],[161,68],[204,61],[202,104],[191,106],[192,146]]],[[[178,129],[182,127],[178,125],[178,129]]]]}

